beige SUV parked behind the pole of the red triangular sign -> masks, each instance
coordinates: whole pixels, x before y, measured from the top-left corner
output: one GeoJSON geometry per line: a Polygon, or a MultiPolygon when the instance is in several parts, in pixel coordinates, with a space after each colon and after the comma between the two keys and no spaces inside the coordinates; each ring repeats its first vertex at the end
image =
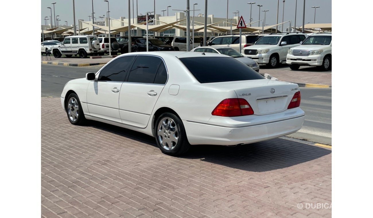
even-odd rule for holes
{"type": "Polygon", "coordinates": [[[254,45],[263,35],[242,35],[241,36],[241,51],[239,50],[239,35],[224,35],[215,37],[209,42],[208,45],[222,45],[233,48],[234,50],[242,53],[242,49],[250,45],[254,45]]]}

